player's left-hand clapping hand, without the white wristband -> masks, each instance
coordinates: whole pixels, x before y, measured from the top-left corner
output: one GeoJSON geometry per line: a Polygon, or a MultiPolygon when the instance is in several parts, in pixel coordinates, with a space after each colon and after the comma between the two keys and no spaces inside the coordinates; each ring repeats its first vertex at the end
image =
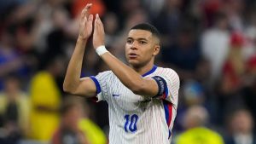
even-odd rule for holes
{"type": "Polygon", "coordinates": [[[92,32],[92,21],[93,21],[93,15],[90,14],[88,16],[88,10],[92,6],[91,3],[86,4],[84,7],[82,13],[81,13],[81,18],[79,22],[79,38],[85,40],[90,37],[91,32],[92,32]]]}

